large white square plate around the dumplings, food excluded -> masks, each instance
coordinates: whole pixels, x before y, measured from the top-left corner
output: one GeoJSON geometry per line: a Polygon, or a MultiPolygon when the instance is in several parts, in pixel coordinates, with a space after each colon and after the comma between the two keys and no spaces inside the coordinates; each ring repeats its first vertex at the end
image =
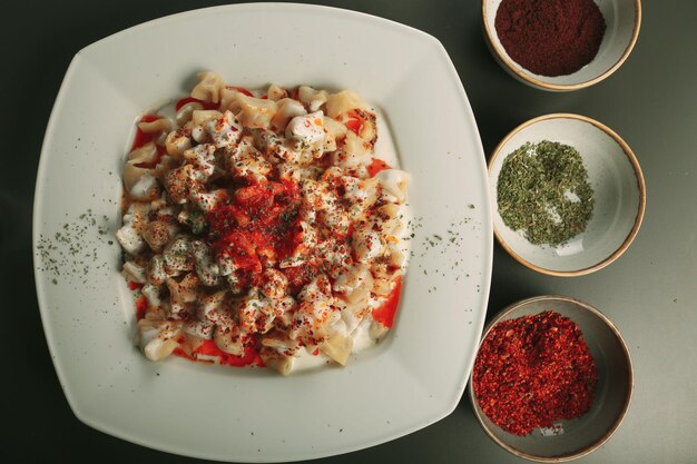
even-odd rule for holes
{"type": "Polygon", "coordinates": [[[111,36],[70,65],[35,198],[46,336],[66,397],[90,426],[189,456],[294,461],[414,432],[462,395],[490,284],[489,196],[462,85],[443,47],[423,32],[344,10],[257,3],[111,36]],[[353,88],[386,116],[413,176],[414,255],[392,333],[345,368],[284,378],[183,359],[155,364],[130,343],[134,304],[111,238],[129,134],[143,110],[186,93],[205,69],[251,88],[353,88]]]}

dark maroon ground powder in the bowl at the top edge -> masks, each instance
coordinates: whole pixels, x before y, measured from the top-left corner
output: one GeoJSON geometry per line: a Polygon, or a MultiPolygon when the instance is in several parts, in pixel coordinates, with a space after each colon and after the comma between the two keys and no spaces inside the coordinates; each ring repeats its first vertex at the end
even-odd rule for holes
{"type": "Polygon", "coordinates": [[[495,29],[516,62],[553,77],[573,73],[596,57],[606,23],[592,0],[503,0],[495,29]]]}

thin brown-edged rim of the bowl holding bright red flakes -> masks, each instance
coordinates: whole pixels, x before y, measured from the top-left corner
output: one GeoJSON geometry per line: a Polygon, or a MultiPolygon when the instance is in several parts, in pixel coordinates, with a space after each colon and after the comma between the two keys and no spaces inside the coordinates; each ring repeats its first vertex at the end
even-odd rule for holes
{"type": "Polygon", "coordinates": [[[625,404],[622,405],[622,411],[620,412],[619,417],[617,418],[612,427],[610,427],[610,430],[600,438],[598,438],[595,443],[591,443],[590,445],[588,445],[586,448],[581,451],[578,451],[571,454],[560,455],[560,456],[549,456],[549,457],[536,456],[533,454],[523,453],[520,450],[517,450],[508,445],[507,443],[502,442],[484,425],[483,413],[477,405],[477,398],[474,397],[474,388],[472,388],[473,371],[472,373],[470,373],[468,396],[470,397],[470,405],[472,406],[472,411],[474,411],[477,421],[482,426],[482,430],[495,444],[501,446],[503,450],[508,451],[511,454],[514,454],[518,457],[522,457],[528,461],[534,461],[539,463],[565,463],[565,462],[578,460],[579,457],[588,456],[590,453],[592,453],[593,451],[598,450],[600,446],[606,444],[612,437],[612,435],[615,435],[615,432],[617,432],[619,426],[625,421],[625,416],[627,415],[627,411],[629,411],[629,405],[631,403],[631,397],[634,394],[634,366],[631,363],[631,356],[629,355],[629,348],[627,346],[627,343],[625,342],[625,338],[622,338],[622,335],[619,333],[619,329],[617,328],[615,323],[612,323],[612,320],[610,320],[605,314],[602,314],[599,309],[595,308],[588,303],[581,302],[580,299],[577,299],[577,298],[562,296],[562,295],[534,296],[531,298],[521,299],[519,302],[512,303],[509,306],[504,307],[499,313],[497,313],[497,315],[491,319],[491,322],[489,322],[487,326],[484,327],[484,332],[482,334],[482,338],[480,342],[480,347],[481,347],[481,344],[484,343],[484,339],[487,338],[489,333],[491,332],[491,328],[494,325],[497,325],[500,320],[502,320],[507,315],[509,315],[510,313],[512,313],[513,310],[522,306],[529,305],[531,303],[537,303],[537,302],[568,302],[568,303],[577,304],[583,307],[585,309],[588,309],[590,313],[595,314],[600,319],[602,319],[607,324],[607,326],[610,328],[610,330],[612,330],[612,334],[615,334],[615,336],[617,337],[620,346],[622,347],[622,352],[627,361],[627,372],[628,372],[629,378],[627,382],[627,395],[625,398],[625,404]]]}

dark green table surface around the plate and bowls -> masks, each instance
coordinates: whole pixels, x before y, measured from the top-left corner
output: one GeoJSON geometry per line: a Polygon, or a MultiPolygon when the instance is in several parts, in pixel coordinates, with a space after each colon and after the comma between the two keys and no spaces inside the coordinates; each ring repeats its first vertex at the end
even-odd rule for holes
{"type": "MultiPolygon", "coordinates": [[[[196,462],[105,435],[71,413],[51,364],[36,299],[31,208],[43,131],[72,56],[130,26],[219,3],[70,0],[3,4],[2,462],[196,462]]],[[[498,67],[481,34],[479,1],[320,3],[389,18],[440,39],[462,79],[487,154],[517,125],[557,111],[598,119],[632,147],[644,169],[648,204],[641,230],[628,251],[596,274],[568,279],[536,274],[497,246],[488,316],[517,299],[541,294],[577,297],[603,310],[630,347],[635,396],[610,442],[578,462],[697,462],[697,2],[644,1],[641,32],[626,63],[599,85],[570,93],[531,89],[498,67]]],[[[420,432],[316,462],[521,460],[484,435],[463,399],[450,416],[420,432]]]]}

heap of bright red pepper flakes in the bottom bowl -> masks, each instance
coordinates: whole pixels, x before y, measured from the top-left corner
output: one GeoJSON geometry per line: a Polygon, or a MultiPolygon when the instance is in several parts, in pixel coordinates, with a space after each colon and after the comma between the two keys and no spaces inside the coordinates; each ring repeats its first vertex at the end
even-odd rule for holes
{"type": "Polygon", "coordinates": [[[482,412],[513,435],[586,414],[597,382],[580,328],[551,310],[497,324],[479,349],[472,376],[482,412]]]}

